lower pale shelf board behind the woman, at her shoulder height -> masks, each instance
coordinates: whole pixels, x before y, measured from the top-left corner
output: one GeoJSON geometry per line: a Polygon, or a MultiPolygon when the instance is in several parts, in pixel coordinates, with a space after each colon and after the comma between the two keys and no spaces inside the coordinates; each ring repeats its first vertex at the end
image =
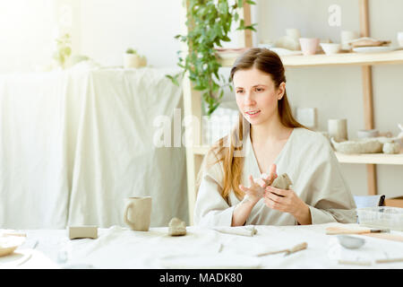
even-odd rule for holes
{"type": "MultiPolygon", "coordinates": [[[[194,146],[193,154],[204,155],[209,151],[209,146],[194,146]]],[[[385,154],[385,153],[363,153],[363,154],[344,154],[335,152],[336,157],[341,163],[364,163],[364,164],[398,164],[403,165],[403,153],[385,154]]]]}

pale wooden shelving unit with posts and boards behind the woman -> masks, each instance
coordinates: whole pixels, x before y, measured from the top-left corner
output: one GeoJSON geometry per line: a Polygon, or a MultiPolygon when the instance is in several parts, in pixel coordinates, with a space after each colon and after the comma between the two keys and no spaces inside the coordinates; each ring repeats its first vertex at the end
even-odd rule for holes
{"type": "MultiPolygon", "coordinates": [[[[370,37],[368,0],[359,0],[359,5],[361,37],[370,37]]],[[[244,21],[245,25],[249,25],[251,23],[249,4],[244,5],[244,21]]],[[[244,35],[244,43],[245,47],[252,47],[252,40],[249,31],[247,31],[244,35]]],[[[234,57],[221,58],[221,65],[232,66],[236,60],[236,56],[237,55],[234,55],[234,57]]],[[[403,50],[371,54],[343,53],[333,56],[283,56],[281,59],[286,67],[361,65],[363,75],[364,126],[366,129],[373,129],[372,65],[401,65],[403,64],[403,50]]],[[[190,83],[188,78],[184,79],[184,114],[193,115],[199,118],[201,122],[201,94],[199,91],[194,91],[192,89],[192,83],[190,83]]],[[[202,158],[209,150],[209,146],[201,146],[201,138],[201,135],[199,135],[199,137],[193,141],[193,146],[186,147],[189,216],[191,224],[193,224],[193,209],[196,199],[195,180],[201,167],[202,158]]],[[[403,153],[342,154],[336,152],[336,156],[339,162],[342,163],[357,163],[366,165],[368,195],[377,194],[377,164],[403,165],[403,153]]]]}

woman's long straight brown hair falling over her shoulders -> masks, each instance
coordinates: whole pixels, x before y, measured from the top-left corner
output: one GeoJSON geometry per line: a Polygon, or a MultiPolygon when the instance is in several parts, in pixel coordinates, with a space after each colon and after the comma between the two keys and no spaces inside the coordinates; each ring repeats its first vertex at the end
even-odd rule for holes
{"type": "MultiPolygon", "coordinates": [[[[276,89],[279,88],[280,83],[286,83],[285,69],[279,55],[267,48],[250,48],[244,52],[243,55],[238,57],[236,63],[231,69],[231,81],[233,81],[236,71],[249,70],[253,67],[264,73],[270,74],[271,80],[276,89]]],[[[287,100],[287,91],[284,92],[284,96],[278,101],[278,104],[279,118],[283,126],[306,128],[298,123],[293,117],[287,100]]],[[[236,152],[243,151],[244,136],[248,134],[249,128],[250,124],[240,112],[236,127],[229,135],[219,139],[217,143],[214,143],[209,151],[218,156],[218,161],[213,162],[212,164],[222,161],[224,182],[221,196],[226,200],[228,200],[231,189],[234,190],[234,193],[239,200],[244,197],[244,192],[239,188],[242,181],[244,157],[235,155],[237,154],[236,152]]],[[[199,172],[197,189],[200,187],[202,171],[203,170],[200,170],[199,172]]]]}

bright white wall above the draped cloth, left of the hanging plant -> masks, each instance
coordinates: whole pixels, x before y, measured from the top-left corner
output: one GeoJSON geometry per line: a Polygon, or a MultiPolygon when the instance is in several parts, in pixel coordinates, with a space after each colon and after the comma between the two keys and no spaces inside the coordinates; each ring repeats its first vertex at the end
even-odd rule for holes
{"type": "MultiPolygon", "coordinates": [[[[123,65],[135,48],[155,67],[176,66],[183,0],[0,0],[0,73],[30,71],[52,58],[56,29],[72,36],[73,54],[123,65]]],[[[237,46],[237,32],[233,42],[237,46]]]]}

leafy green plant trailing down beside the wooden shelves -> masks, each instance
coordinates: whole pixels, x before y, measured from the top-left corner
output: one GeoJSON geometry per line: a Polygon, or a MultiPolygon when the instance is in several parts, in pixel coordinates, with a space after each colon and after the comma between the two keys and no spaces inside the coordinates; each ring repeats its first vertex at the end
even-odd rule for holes
{"type": "Polygon", "coordinates": [[[232,87],[229,80],[219,74],[219,60],[216,57],[215,47],[222,47],[222,42],[228,42],[228,32],[233,22],[239,22],[236,30],[254,30],[254,25],[244,26],[244,20],[239,19],[238,8],[244,3],[255,4],[250,0],[189,0],[186,25],[189,27],[187,35],[176,35],[176,39],[185,42],[189,53],[181,57],[178,51],[177,65],[183,71],[176,75],[167,75],[173,83],[178,85],[178,79],[189,72],[189,79],[193,89],[201,91],[202,99],[207,103],[207,114],[219,107],[224,95],[224,87],[232,87]],[[224,84],[219,84],[220,80],[224,84]]]}

